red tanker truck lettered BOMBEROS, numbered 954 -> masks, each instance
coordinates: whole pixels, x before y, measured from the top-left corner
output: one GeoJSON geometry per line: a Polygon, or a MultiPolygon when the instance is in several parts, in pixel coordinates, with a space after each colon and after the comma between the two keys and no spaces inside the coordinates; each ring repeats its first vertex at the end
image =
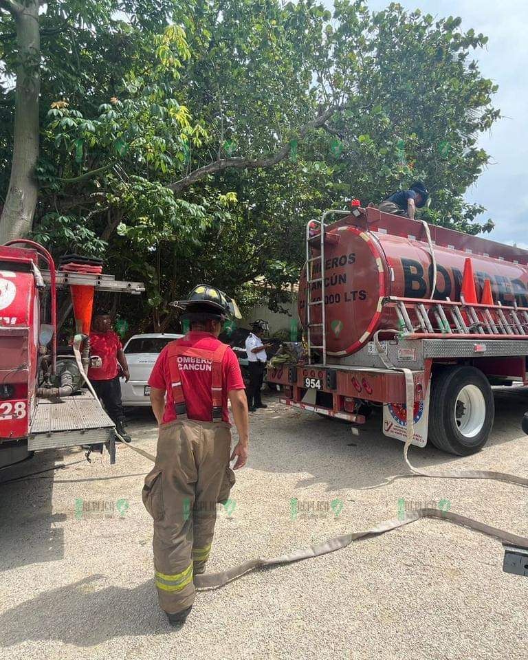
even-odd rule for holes
{"type": "Polygon", "coordinates": [[[528,251],[354,206],[308,224],[306,255],[305,358],[267,371],[281,401],[356,426],[381,404],[401,441],[412,406],[415,445],[480,450],[491,386],[528,382],[528,251]]]}

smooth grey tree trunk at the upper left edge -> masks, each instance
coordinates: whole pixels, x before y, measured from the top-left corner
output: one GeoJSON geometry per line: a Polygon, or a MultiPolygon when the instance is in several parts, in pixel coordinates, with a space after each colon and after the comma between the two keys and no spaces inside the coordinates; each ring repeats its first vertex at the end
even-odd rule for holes
{"type": "Polygon", "coordinates": [[[39,94],[41,87],[39,2],[30,0],[14,14],[19,66],[15,89],[14,146],[11,178],[0,219],[0,244],[30,232],[38,185],[34,168],[39,158],[39,94]]]}

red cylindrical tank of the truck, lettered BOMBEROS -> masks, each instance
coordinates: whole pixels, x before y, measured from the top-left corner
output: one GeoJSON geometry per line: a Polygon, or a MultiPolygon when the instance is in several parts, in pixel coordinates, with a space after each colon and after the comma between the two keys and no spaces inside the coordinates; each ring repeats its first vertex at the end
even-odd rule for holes
{"type": "MultiPolygon", "coordinates": [[[[528,251],[429,225],[432,243],[421,221],[360,210],[325,230],[325,316],[327,355],[355,353],[376,331],[395,329],[399,320],[388,296],[417,301],[461,300],[464,263],[472,261],[476,292],[481,299],[489,279],[495,302],[528,307],[528,251]],[[436,260],[437,282],[431,291],[436,260]]],[[[319,254],[320,234],[311,241],[312,257],[319,254]]],[[[311,279],[321,278],[320,259],[311,261],[311,279]]],[[[299,284],[298,311],[306,327],[306,270],[299,284]]],[[[311,300],[321,299],[322,283],[311,283],[311,300]]],[[[321,305],[311,307],[311,342],[322,343],[321,305]]],[[[434,318],[431,318],[434,324],[434,318]]],[[[380,333],[380,336],[383,336],[380,333]]],[[[446,336],[448,337],[448,335],[446,336]]]]}

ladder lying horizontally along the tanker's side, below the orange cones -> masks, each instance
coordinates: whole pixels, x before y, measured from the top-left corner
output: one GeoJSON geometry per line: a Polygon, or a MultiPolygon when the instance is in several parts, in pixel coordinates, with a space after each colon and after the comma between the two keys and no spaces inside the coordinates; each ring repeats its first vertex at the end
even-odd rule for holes
{"type": "Polygon", "coordinates": [[[483,305],[453,300],[419,300],[389,296],[386,303],[395,307],[399,330],[408,336],[443,334],[459,338],[494,336],[494,338],[527,338],[528,307],[483,305]],[[434,322],[432,322],[434,318],[434,322]]]}

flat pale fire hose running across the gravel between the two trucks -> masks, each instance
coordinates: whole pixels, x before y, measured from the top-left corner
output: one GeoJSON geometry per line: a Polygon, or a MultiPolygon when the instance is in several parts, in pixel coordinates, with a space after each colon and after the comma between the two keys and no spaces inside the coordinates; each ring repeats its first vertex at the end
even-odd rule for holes
{"type": "MultiPolygon", "coordinates": [[[[398,333],[397,330],[392,331],[398,333]]],[[[408,460],[408,449],[412,440],[414,439],[414,422],[412,416],[412,410],[414,408],[414,380],[412,377],[412,371],[410,369],[399,369],[395,367],[388,360],[384,354],[382,345],[378,338],[378,333],[375,333],[374,342],[382,362],[384,362],[387,369],[395,369],[397,371],[402,371],[405,377],[406,383],[406,406],[407,410],[411,411],[411,414],[408,415],[407,423],[407,432],[406,432],[406,442],[404,445],[404,459],[409,469],[413,472],[412,475],[404,476],[427,476],[432,478],[470,478],[470,479],[495,479],[498,481],[507,481],[508,483],[515,483],[517,485],[528,485],[528,478],[516,476],[514,474],[505,474],[503,472],[490,472],[487,470],[467,470],[467,471],[446,471],[446,472],[424,472],[419,470],[416,467],[413,467],[408,460]]],[[[80,343],[82,338],[76,336],[76,341],[74,341],[74,355],[76,358],[77,366],[81,375],[91,391],[94,397],[98,400],[98,397],[94,391],[94,388],[91,386],[91,383],[88,380],[88,377],[83,369],[83,364],[81,362],[80,356],[80,343]]],[[[120,435],[116,433],[117,437],[122,440],[120,435]]],[[[144,450],[134,447],[128,443],[122,443],[124,447],[140,454],[144,458],[148,459],[155,463],[155,456],[149,454],[144,450]]],[[[467,527],[473,531],[483,533],[486,536],[491,536],[492,538],[498,539],[503,544],[516,547],[516,549],[522,549],[528,553],[528,538],[525,536],[518,536],[517,534],[511,533],[504,529],[498,527],[493,527],[492,525],[487,525],[485,522],[480,520],[474,520],[473,518],[467,518],[467,516],[461,516],[461,514],[455,514],[453,511],[441,511],[440,509],[415,509],[413,511],[406,511],[403,516],[398,518],[391,518],[390,520],[384,520],[383,522],[377,523],[374,527],[363,531],[354,531],[348,534],[343,534],[341,536],[334,536],[329,538],[321,543],[310,545],[307,548],[294,550],[289,553],[284,553],[270,559],[256,558],[252,560],[245,561],[237,566],[232,566],[230,569],[225,571],[219,571],[217,573],[203,573],[202,575],[195,575],[194,582],[195,586],[200,589],[214,589],[225,586],[228,582],[236,580],[238,577],[245,575],[245,573],[250,573],[255,569],[264,568],[267,566],[281,566],[285,564],[293,564],[294,562],[299,562],[301,560],[309,559],[312,557],[320,557],[321,555],[326,555],[330,552],[335,552],[336,550],[341,550],[348,547],[351,543],[362,540],[365,538],[372,538],[374,536],[381,536],[382,534],[393,531],[393,529],[398,529],[399,527],[404,527],[405,525],[410,525],[412,522],[417,522],[417,520],[423,520],[426,518],[434,518],[436,520],[445,520],[450,522],[452,525],[459,525],[461,527],[467,527]]]]}

